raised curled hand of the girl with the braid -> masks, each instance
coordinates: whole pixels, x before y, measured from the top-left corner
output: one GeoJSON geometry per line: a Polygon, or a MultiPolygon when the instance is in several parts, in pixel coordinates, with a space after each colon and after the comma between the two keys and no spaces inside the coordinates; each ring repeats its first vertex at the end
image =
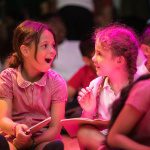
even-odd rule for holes
{"type": "Polygon", "coordinates": [[[93,113],[96,110],[96,99],[93,96],[92,88],[81,89],[78,94],[78,102],[85,112],[93,113]]]}

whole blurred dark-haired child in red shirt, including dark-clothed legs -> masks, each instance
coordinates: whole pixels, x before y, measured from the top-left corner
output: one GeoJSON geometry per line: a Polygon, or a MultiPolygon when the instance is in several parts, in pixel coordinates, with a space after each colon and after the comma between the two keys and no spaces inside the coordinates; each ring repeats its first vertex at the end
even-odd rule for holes
{"type": "Polygon", "coordinates": [[[81,67],[67,82],[68,85],[68,104],[66,107],[67,117],[79,117],[81,115],[81,107],[76,99],[77,93],[81,88],[85,88],[89,83],[97,77],[95,66],[92,61],[94,55],[94,40],[86,39],[79,45],[82,59],[85,65],[81,67]]]}

